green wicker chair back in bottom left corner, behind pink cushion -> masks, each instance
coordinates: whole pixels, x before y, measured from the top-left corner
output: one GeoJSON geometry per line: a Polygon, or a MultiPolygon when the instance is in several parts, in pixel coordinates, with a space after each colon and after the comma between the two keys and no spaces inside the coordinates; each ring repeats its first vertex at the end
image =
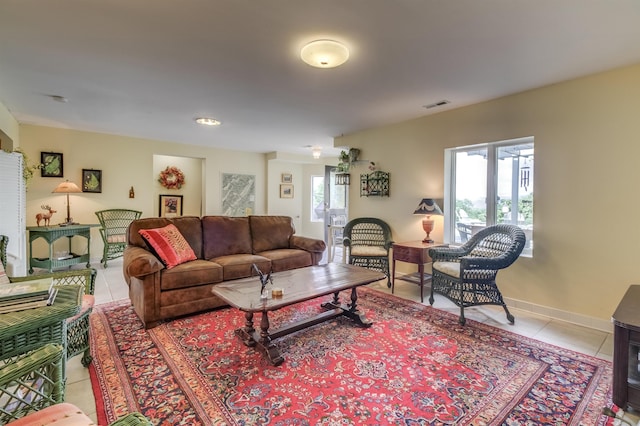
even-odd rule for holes
{"type": "Polygon", "coordinates": [[[0,361],[0,424],[63,401],[63,352],[49,343],[0,361]]]}

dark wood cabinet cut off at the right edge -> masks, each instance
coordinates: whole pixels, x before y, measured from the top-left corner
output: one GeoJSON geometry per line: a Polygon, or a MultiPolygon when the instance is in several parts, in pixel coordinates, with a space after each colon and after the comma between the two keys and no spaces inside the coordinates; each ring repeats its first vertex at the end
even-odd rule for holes
{"type": "Polygon", "coordinates": [[[640,410],[640,285],[629,287],[613,314],[613,403],[640,410]]]}

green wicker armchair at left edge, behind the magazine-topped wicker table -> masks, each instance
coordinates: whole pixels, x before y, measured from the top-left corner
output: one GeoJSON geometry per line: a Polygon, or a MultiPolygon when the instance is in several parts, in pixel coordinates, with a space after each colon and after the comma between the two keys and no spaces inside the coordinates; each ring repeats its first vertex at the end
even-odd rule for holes
{"type": "MultiPolygon", "coordinates": [[[[8,241],[8,238],[4,240],[8,241]]],[[[0,238],[2,239],[2,238],[0,238]]],[[[6,246],[0,245],[0,259],[2,260],[2,269],[6,266],[6,246]]],[[[53,283],[57,286],[61,285],[82,285],[84,288],[84,296],[80,312],[67,320],[67,359],[76,355],[82,355],[82,365],[88,367],[91,363],[91,348],[89,342],[89,315],[93,311],[95,304],[94,292],[97,271],[93,268],[72,269],[68,271],[50,272],[46,274],[30,275],[26,277],[9,277],[10,282],[23,282],[40,278],[53,278],[53,283]]]]}

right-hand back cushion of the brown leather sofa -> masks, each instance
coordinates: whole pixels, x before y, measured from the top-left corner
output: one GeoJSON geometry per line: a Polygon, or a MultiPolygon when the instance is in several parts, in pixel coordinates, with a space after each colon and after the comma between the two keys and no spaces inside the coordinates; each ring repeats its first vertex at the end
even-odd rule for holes
{"type": "Polygon", "coordinates": [[[249,216],[253,253],[289,248],[289,238],[295,233],[289,216],[249,216]]]}

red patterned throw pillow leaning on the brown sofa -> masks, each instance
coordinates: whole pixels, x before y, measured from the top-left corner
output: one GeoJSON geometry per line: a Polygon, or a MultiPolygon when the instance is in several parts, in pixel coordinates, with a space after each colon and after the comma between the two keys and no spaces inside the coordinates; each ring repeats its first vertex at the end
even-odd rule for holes
{"type": "Polygon", "coordinates": [[[141,229],[138,232],[155,250],[167,269],[197,259],[187,240],[173,224],[164,228],[141,229]]]}

